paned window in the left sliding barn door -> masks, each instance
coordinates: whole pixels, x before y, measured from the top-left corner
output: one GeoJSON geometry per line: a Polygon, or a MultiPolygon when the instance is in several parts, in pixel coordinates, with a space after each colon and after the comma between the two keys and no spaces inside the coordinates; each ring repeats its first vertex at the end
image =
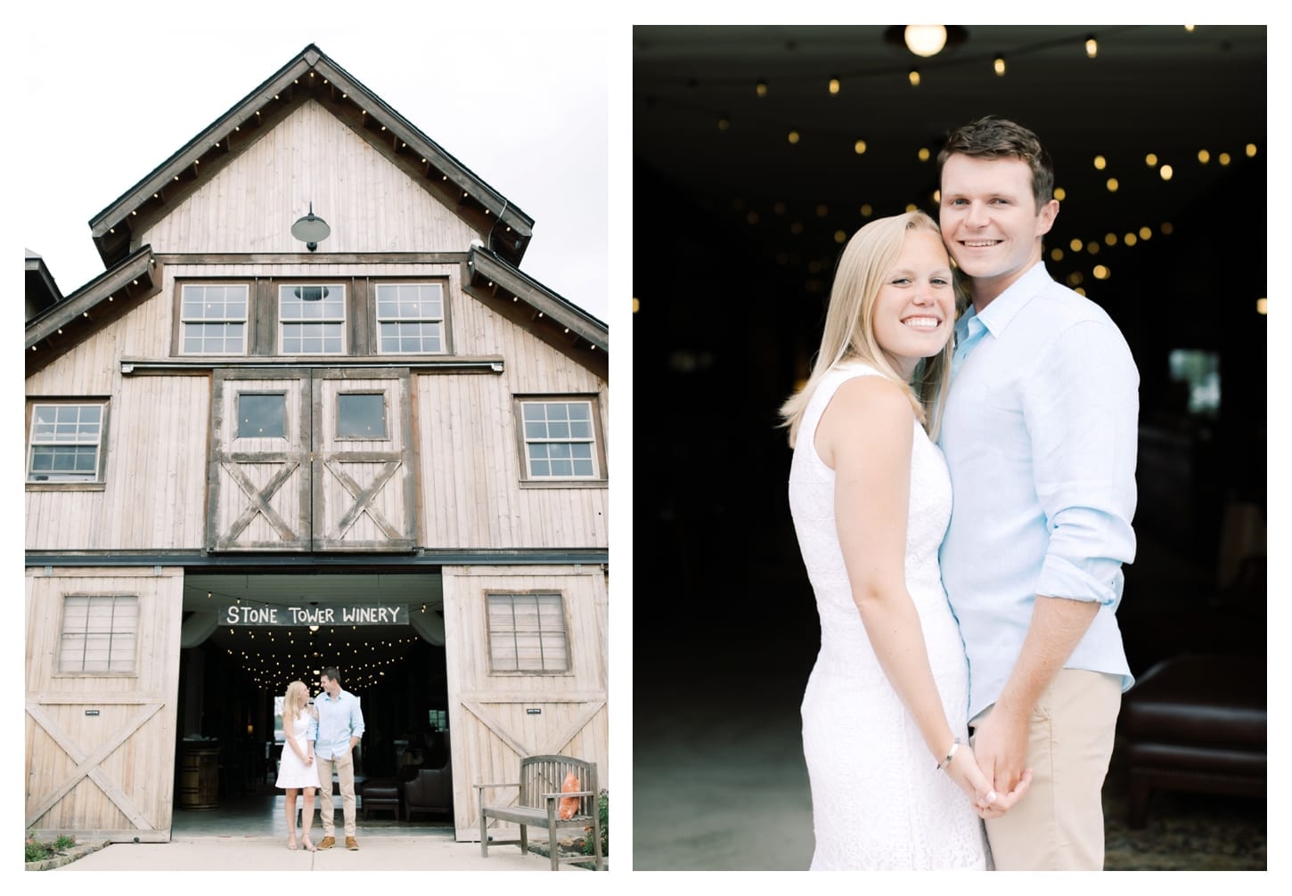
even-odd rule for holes
{"type": "Polygon", "coordinates": [[[58,674],[134,675],[138,647],[137,594],[63,595],[63,618],[58,626],[58,674]]]}

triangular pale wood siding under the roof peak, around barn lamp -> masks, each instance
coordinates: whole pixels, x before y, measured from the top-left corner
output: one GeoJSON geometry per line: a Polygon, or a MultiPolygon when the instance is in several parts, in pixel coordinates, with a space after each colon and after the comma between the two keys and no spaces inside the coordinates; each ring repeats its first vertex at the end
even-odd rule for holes
{"type": "Polygon", "coordinates": [[[319,252],[466,252],[478,234],[313,99],[132,238],[132,249],[301,252],[292,223],[314,204],[319,252]]]}

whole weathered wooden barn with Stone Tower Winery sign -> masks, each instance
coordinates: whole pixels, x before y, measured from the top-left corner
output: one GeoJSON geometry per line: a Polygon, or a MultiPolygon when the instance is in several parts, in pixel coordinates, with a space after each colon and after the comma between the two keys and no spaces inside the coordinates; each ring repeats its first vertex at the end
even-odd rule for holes
{"type": "Polygon", "coordinates": [[[327,666],[459,839],[523,755],[606,786],[609,336],[532,226],[311,44],[94,216],[102,275],[28,253],[28,830],[271,790],[327,666]]]}

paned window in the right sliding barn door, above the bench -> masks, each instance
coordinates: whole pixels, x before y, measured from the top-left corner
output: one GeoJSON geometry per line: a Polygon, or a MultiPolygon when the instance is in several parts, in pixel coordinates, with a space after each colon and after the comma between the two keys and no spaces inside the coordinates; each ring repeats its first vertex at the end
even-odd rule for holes
{"type": "Polygon", "coordinates": [[[559,591],[487,591],[484,625],[492,674],[571,673],[570,626],[565,595],[559,591]],[[522,612],[518,615],[517,609],[522,612]],[[537,651],[537,665],[534,665],[534,651],[537,651]]]}

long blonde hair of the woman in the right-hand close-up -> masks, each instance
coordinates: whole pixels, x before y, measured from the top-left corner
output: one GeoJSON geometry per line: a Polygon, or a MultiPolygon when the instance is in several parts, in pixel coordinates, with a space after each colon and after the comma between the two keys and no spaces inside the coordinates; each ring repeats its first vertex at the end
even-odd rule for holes
{"type": "MultiPolygon", "coordinates": [[[[902,244],[912,230],[926,230],[939,234],[938,225],[924,212],[907,212],[888,218],[876,218],[853,234],[844,248],[835,271],[835,285],[829,290],[829,307],[826,311],[826,328],[820,338],[820,349],[813,364],[808,383],[780,405],[782,426],[789,427],[789,447],[793,448],[798,435],[798,423],[804,409],[811,400],[817,385],[835,364],[845,360],[860,360],[885,378],[902,386],[911,399],[915,411],[929,438],[938,436],[942,422],[942,400],[951,383],[952,341],[933,358],[925,358],[915,368],[911,381],[902,378],[889,363],[879,342],[875,340],[875,298],[884,285],[898,256],[902,244]]],[[[957,309],[960,302],[956,302],[957,309]]]]}

